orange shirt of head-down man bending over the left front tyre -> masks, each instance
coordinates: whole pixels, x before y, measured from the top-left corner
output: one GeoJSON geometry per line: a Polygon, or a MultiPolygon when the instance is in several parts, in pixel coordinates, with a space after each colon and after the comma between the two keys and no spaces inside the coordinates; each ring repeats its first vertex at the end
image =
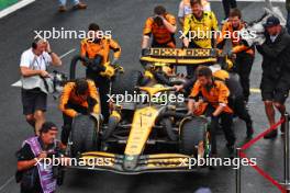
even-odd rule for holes
{"type": "MultiPolygon", "coordinates": [[[[100,107],[99,107],[99,95],[97,88],[91,80],[88,81],[88,91],[86,93],[86,96],[91,98],[92,100],[96,101],[96,105],[93,106],[93,113],[98,114],[100,113],[100,107]]],[[[76,94],[76,83],[75,82],[68,82],[63,90],[63,94],[60,98],[60,103],[59,103],[59,109],[63,113],[70,117],[75,117],[77,115],[77,112],[72,109],[67,109],[66,105],[67,103],[70,102],[72,104],[81,105],[83,107],[88,107],[88,101],[83,100],[79,95],[76,94]]]]}

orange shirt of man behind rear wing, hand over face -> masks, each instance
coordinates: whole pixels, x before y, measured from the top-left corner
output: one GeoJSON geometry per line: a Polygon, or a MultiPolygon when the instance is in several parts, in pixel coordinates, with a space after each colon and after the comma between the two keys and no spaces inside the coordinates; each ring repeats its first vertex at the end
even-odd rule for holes
{"type": "MultiPolygon", "coordinates": [[[[171,25],[176,25],[176,19],[171,14],[166,14],[165,20],[167,20],[171,25]]],[[[170,33],[166,26],[158,26],[153,18],[148,18],[145,22],[145,26],[143,30],[143,35],[153,35],[153,38],[158,44],[166,44],[169,42],[174,42],[172,33],[170,33]]]]}

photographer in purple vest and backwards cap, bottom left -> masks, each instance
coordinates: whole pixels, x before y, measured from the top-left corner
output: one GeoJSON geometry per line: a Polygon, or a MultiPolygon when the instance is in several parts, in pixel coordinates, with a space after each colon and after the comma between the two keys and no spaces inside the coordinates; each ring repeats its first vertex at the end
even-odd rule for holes
{"type": "Polygon", "coordinates": [[[58,129],[54,123],[46,122],[40,132],[40,136],[24,140],[16,155],[21,193],[54,193],[56,190],[53,166],[44,166],[43,160],[55,154],[58,129]]]}

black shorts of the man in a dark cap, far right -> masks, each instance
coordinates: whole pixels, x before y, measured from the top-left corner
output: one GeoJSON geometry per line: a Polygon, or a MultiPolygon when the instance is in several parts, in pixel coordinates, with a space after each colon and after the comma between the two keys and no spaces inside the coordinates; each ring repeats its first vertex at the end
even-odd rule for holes
{"type": "Polygon", "coordinates": [[[289,95],[289,88],[281,81],[263,76],[260,82],[263,101],[272,101],[283,104],[289,95]]]}

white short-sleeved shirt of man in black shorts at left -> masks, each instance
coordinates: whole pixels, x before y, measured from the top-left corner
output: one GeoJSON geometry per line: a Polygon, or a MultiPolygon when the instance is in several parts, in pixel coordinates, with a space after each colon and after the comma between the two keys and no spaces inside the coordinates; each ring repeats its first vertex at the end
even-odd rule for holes
{"type": "Polygon", "coordinates": [[[25,50],[21,55],[20,67],[27,67],[32,70],[46,70],[51,65],[52,57],[48,53],[43,52],[42,55],[36,56],[32,48],[25,50]]]}

